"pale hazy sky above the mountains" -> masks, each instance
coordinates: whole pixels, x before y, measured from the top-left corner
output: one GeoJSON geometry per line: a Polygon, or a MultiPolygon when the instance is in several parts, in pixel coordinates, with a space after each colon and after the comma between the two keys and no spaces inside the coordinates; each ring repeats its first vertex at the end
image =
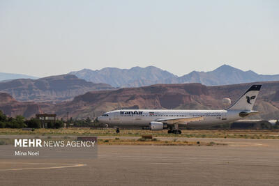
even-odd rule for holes
{"type": "Polygon", "coordinates": [[[0,0],[0,72],[224,63],[279,74],[279,1],[0,0]]]}

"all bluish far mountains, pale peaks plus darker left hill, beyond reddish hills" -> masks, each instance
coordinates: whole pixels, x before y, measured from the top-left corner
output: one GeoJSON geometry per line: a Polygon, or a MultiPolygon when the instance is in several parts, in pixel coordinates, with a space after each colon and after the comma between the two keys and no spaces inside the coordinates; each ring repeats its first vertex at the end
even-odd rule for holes
{"type": "Polygon", "coordinates": [[[123,87],[141,87],[152,84],[200,83],[206,86],[266,82],[279,80],[279,75],[258,75],[229,65],[209,72],[190,72],[178,77],[153,66],[130,69],[103,68],[80,70],[67,75],[40,79],[13,79],[0,82],[0,91],[18,101],[62,102],[89,91],[113,90],[123,87]],[[116,87],[116,88],[114,88],[116,87]]]}

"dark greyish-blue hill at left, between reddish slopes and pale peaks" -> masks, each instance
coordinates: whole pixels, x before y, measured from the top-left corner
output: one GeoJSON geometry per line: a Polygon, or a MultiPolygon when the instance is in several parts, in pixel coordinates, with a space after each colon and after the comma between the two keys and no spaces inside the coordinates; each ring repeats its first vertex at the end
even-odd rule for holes
{"type": "Polygon", "coordinates": [[[0,82],[0,91],[19,101],[61,102],[88,91],[113,89],[108,84],[94,84],[75,75],[59,75],[40,79],[15,79],[0,82]]]}

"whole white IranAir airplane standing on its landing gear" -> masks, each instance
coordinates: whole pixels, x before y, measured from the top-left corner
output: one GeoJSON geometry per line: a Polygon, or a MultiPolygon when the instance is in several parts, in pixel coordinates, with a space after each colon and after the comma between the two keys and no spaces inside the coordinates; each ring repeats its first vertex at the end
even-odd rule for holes
{"type": "MultiPolygon", "coordinates": [[[[167,129],[168,133],[181,134],[179,125],[212,126],[231,123],[246,116],[257,114],[253,111],[257,95],[262,85],[252,85],[239,100],[225,110],[159,110],[123,109],[108,111],[97,120],[112,126],[149,127],[151,130],[167,129]]],[[[117,128],[116,132],[119,132],[117,128]]]]}

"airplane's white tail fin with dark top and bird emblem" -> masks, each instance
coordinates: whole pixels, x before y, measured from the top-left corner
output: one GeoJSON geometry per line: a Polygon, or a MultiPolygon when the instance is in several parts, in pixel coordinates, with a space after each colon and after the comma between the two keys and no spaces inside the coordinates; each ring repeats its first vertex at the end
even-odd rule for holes
{"type": "Polygon", "coordinates": [[[246,93],[244,93],[239,100],[237,100],[232,106],[228,107],[226,110],[252,110],[255,104],[257,95],[262,85],[252,85],[246,93]]]}

